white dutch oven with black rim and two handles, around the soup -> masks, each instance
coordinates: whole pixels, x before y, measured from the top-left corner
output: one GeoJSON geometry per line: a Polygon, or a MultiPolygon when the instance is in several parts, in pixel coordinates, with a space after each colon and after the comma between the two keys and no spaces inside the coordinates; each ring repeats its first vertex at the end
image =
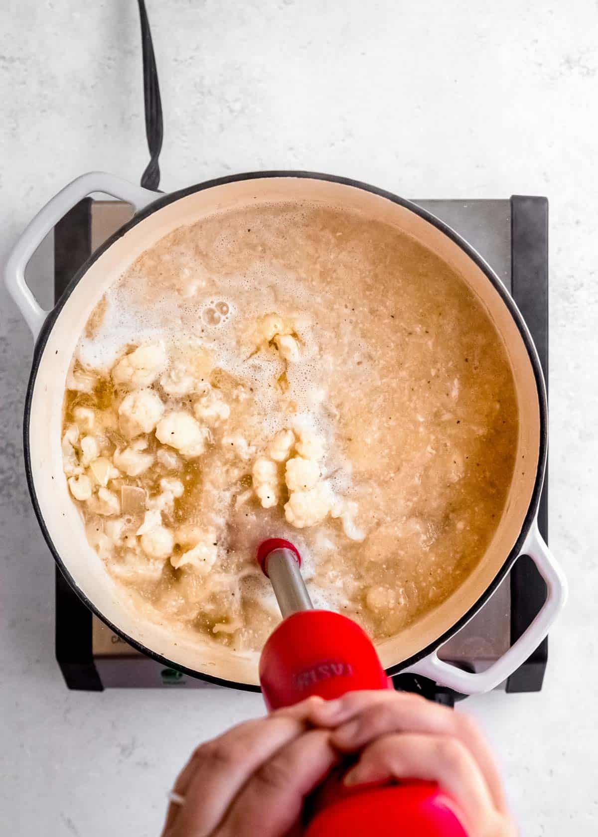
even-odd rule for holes
{"type": "Polygon", "coordinates": [[[363,183],[308,172],[262,172],[225,177],[161,195],[92,172],[77,178],[49,201],[19,239],[5,268],[8,290],[36,340],[23,438],[28,486],[44,537],[80,598],[127,642],[190,675],[238,688],[257,688],[255,655],[237,654],[201,637],[173,634],[168,626],[142,618],[131,608],[87,543],[64,478],[60,431],[70,359],[87,318],[111,282],[172,229],[226,208],[286,200],[358,209],[410,234],[462,276],[503,337],[513,368],[520,421],[518,467],[502,520],[485,556],[461,587],[433,612],[378,646],[390,674],[401,671],[425,675],[466,694],[492,689],[544,639],[566,595],[563,574],[537,525],[547,449],[546,392],[539,359],[517,307],[482,258],[430,213],[363,183]],[[96,192],[131,203],[137,214],[90,257],[54,310],[43,311],[25,285],[25,266],[59,218],[96,192]],[[482,673],[463,671],[441,661],[437,650],[487,602],[522,554],[533,558],[548,590],[534,622],[500,660],[482,673]]]}

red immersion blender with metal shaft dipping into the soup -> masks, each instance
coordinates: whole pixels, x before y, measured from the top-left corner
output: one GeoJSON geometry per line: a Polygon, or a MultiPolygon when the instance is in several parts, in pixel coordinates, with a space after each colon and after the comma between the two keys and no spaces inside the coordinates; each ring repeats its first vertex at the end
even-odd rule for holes
{"type": "MultiPolygon", "coordinates": [[[[283,621],[260,656],[260,684],[268,710],[318,695],[393,688],[374,645],[347,616],[315,610],[296,547],[281,538],[260,543],[257,560],[270,578],[283,621]]],[[[312,800],[306,837],[467,837],[458,809],[436,783],[345,788],[342,773],[312,800]]]]}

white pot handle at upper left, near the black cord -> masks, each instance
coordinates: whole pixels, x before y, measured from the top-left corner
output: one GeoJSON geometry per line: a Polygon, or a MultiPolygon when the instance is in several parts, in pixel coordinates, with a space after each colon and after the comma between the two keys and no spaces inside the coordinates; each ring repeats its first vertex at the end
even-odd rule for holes
{"type": "Polygon", "coordinates": [[[8,293],[17,303],[19,311],[23,314],[27,325],[31,329],[34,340],[37,339],[48,311],[39,306],[38,301],[28,289],[25,283],[25,268],[28,260],[39,247],[44,237],[54,228],[75,203],[94,192],[103,192],[111,195],[112,198],[120,198],[126,203],[131,203],[136,211],[147,207],[149,203],[159,197],[157,192],[135,186],[120,177],[115,177],[106,172],[88,172],[77,177],[73,182],[65,186],[54,198],[51,198],[43,209],[28,224],[17,244],[14,245],[8,261],[4,266],[4,282],[8,293]]]}

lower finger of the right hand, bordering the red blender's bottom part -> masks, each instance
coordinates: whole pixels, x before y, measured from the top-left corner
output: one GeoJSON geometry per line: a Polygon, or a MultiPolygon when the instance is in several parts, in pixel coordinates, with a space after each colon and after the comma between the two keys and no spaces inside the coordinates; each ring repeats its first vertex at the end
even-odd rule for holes
{"type": "Polygon", "coordinates": [[[498,819],[482,771],[454,737],[403,732],[378,738],[365,747],[344,781],[356,785],[389,778],[437,782],[455,800],[472,834],[498,819]]]}

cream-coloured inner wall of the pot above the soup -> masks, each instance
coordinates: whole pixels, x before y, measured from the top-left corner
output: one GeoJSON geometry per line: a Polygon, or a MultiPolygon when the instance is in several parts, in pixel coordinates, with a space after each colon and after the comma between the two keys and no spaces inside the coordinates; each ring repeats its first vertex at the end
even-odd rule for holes
{"type": "Polygon", "coordinates": [[[162,624],[142,619],[104,571],[88,545],[79,512],[70,501],[62,470],[60,431],[64,383],[70,358],[90,312],[108,285],[143,250],[172,229],[225,208],[262,201],[309,200],[356,208],[410,234],[439,254],[472,287],[503,336],[513,367],[520,410],[518,466],[503,520],[487,554],[461,588],[439,608],[400,635],[379,645],[385,666],[425,648],[467,613],[492,583],[523,526],[534,488],[539,456],[539,401],[534,372],[513,317],[487,277],[456,244],[409,209],[357,187],[297,177],[227,183],[168,204],[137,224],[91,265],[60,312],[49,335],[34,385],[29,427],[31,467],[49,536],[75,583],[101,614],[124,634],[189,669],[255,684],[255,655],[240,655],[206,640],[174,635],[162,624]]]}

